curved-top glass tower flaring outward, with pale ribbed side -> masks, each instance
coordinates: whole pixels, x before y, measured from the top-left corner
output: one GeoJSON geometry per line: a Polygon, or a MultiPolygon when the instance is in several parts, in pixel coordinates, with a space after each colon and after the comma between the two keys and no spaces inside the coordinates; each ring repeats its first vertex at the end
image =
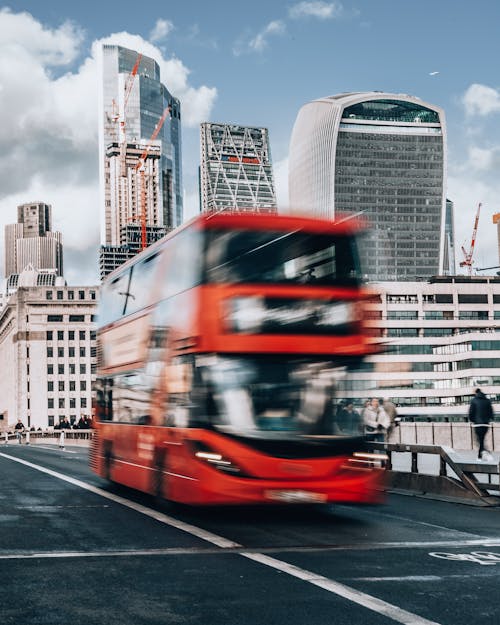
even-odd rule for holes
{"type": "Polygon", "coordinates": [[[439,107],[383,92],[344,93],[302,107],[289,154],[290,210],[361,214],[371,281],[443,271],[446,127],[439,107]]]}

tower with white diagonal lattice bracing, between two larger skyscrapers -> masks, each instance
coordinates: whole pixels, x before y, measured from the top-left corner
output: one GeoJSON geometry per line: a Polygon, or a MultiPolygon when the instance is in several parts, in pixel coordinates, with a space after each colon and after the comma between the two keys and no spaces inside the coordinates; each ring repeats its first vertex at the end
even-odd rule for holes
{"type": "Polygon", "coordinates": [[[200,148],[202,211],[276,212],[267,128],[205,122],[200,148]]]}

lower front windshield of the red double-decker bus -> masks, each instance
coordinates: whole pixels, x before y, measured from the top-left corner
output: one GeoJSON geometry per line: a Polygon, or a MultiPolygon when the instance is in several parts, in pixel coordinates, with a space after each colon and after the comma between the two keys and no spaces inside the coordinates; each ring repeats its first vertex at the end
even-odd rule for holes
{"type": "MultiPolygon", "coordinates": [[[[200,356],[209,420],[241,436],[334,435],[330,362],[248,356],[200,356]]],[[[197,368],[198,368],[197,367],[197,368]]],[[[347,435],[359,435],[359,423],[347,435]]]]}

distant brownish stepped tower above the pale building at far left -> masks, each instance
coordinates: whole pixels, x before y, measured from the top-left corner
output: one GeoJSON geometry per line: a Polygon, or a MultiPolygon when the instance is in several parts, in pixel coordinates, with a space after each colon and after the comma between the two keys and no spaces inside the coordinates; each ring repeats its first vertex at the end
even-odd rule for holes
{"type": "Polygon", "coordinates": [[[62,234],[52,232],[52,207],[28,202],[17,207],[17,223],[5,226],[5,277],[20,274],[28,265],[63,273],[62,234]]]}

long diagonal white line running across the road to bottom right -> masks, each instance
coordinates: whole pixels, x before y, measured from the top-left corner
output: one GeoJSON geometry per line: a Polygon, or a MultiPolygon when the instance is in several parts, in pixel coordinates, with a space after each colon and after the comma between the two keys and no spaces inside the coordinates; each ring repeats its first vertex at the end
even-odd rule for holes
{"type": "MultiPolygon", "coordinates": [[[[163,514],[162,512],[157,512],[155,510],[151,510],[141,504],[135,503],[133,501],[129,501],[124,497],[120,497],[118,495],[114,495],[112,493],[108,493],[105,490],[98,488],[96,486],[92,486],[91,484],[87,484],[81,480],[77,480],[75,478],[69,477],[67,475],[63,475],[62,473],[58,473],[57,471],[52,471],[51,469],[47,469],[40,465],[36,465],[32,462],[28,462],[27,460],[22,460],[21,458],[16,458],[13,456],[9,456],[8,454],[0,453],[0,457],[6,458],[7,460],[11,460],[13,462],[18,462],[27,467],[35,469],[36,471],[40,471],[41,473],[45,473],[46,475],[50,475],[57,479],[68,482],[69,484],[73,484],[74,486],[78,486],[84,490],[87,490],[96,495],[100,495],[106,499],[112,500],[118,504],[131,508],[136,512],[144,514],[150,518],[153,518],[161,523],[165,523],[171,527],[175,527],[176,529],[182,530],[191,534],[192,536],[196,536],[201,540],[209,542],[213,545],[222,548],[239,548],[243,547],[239,543],[228,540],[222,536],[218,536],[213,534],[212,532],[208,532],[202,528],[196,527],[189,523],[184,523],[183,521],[179,521],[169,515],[163,514]]],[[[407,612],[398,606],[387,603],[386,601],[382,601],[381,599],[377,599],[367,593],[358,591],[354,588],[346,586],[345,584],[341,584],[339,582],[335,582],[327,577],[323,577],[322,575],[318,575],[313,573],[312,571],[307,571],[306,569],[302,569],[294,566],[293,564],[289,564],[287,562],[283,562],[271,556],[265,555],[263,553],[252,553],[249,551],[238,551],[238,553],[247,558],[248,560],[252,560],[253,562],[257,562],[259,564],[263,564],[264,566],[268,566],[277,571],[281,571],[286,573],[292,577],[310,583],[314,586],[327,590],[339,597],[343,597],[348,601],[351,601],[357,605],[361,605],[377,614],[383,614],[392,620],[402,623],[403,625],[438,625],[434,621],[429,621],[423,617],[420,617],[411,612],[407,612]]]]}

